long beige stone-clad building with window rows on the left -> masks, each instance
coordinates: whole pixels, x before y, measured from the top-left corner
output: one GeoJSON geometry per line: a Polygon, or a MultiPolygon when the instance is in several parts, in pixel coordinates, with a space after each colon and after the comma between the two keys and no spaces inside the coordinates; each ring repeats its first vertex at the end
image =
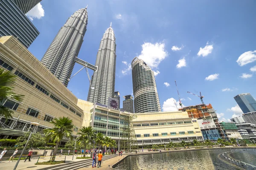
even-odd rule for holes
{"type": "Polygon", "coordinates": [[[6,99],[0,103],[14,111],[12,119],[0,117],[0,139],[15,139],[37,122],[35,131],[51,128],[53,118],[69,117],[75,125],[73,134],[83,124],[83,110],[78,99],[15,37],[0,37],[0,68],[17,75],[14,92],[24,95],[22,102],[6,99]]]}

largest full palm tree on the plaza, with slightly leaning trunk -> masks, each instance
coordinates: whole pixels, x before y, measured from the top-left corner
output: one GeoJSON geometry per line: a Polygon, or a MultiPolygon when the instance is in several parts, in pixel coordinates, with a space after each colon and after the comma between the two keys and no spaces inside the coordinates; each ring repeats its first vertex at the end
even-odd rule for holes
{"type": "Polygon", "coordinates": [[[52,142],[56,143],[55,148],[53,150],[52,159],[53,161],[55,159],[58,146],[61,142],[61,140],[66,137],[69,139],[73,139],[72,133],[74,125],[72,123],[72,119],[68,117],[60,117],[60,118],[54,118],[52,122],[50,122],[53,127],[49,129],[44,129],[44,134],[46,136],[46,139],[51,139],[52,142]]]}

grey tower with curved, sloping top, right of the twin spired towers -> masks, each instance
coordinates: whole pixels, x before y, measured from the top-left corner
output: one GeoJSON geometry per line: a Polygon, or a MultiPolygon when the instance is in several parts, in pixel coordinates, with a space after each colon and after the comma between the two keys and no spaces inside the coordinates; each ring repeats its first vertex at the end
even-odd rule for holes
{"type": "Polygon", "coordinates": [[[131,62],[135,113],[160,112],[160,102],[154,72],[142,60],[131,62]]]}

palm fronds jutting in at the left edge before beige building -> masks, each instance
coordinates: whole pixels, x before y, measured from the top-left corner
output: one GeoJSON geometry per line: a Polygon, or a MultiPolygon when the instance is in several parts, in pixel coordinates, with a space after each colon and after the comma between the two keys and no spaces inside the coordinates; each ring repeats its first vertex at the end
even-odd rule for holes
{"type": "MultiPolygon", "coordinates": [[[[15,87],[16,75],[11,71],[4,71],[0,68],[0,103],[5,99],[14,99],[19,102],[22,101],[23,95],[15,94],[13,88],[15,87]]],[[[0,105],[0,116],[4,116],[6,119],[12,118],[14,112],[0,105]]]]}

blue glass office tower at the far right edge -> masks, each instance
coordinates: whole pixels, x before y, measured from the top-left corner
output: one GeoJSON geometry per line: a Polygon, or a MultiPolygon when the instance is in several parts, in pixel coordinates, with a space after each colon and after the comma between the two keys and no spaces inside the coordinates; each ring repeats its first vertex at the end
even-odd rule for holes
{"type": "Polygon", "coordinates": [[[243,113],[256,111],[256,100],[250,93],[239,94],[234,97],[243,113]]]}

